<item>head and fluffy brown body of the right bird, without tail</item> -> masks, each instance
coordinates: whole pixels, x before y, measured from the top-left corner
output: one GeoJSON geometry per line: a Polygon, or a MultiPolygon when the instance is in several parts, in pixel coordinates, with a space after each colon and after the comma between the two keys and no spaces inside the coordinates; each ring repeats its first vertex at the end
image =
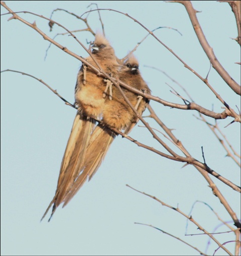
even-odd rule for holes
{"type": "MultiPolygon", "coordinates": [[[[118,73],[118,79],[145,93],[150,94],[151,92],[141,76],[139,62],[134,55],[130,55],[125,61],[123,68],[118,73]]],[[[149,100],[128,89],[122,89],[138,114],[142,115],[149,100]]],[[[121,95],[121,92],[117,88],[113,88],[113,100],[106,100],[103,108],[103,123],[118,130],[124,129],[125,133],[129,134],[138,120],[130,105],[121,95]]]]}

